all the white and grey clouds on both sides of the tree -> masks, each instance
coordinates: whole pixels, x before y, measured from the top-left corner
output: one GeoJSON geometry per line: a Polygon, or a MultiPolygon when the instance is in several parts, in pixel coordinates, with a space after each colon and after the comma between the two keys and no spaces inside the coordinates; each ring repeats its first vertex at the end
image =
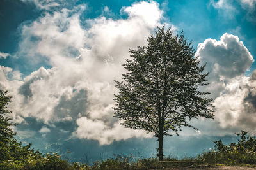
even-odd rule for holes
{"type": "MultiPolygon", "coordinates": [[[[113,80],[122,78],[125,70],[121,64],[129,57],[129,48],[146,45],[154,28],[162,25],[159,4],[141,1],[124,7],[120,12],[127,15],[126,19],[100,16],[81,20],[86,5],[48,13],[61,1],[29,2],[46,11],[38,20],[22,26],[19,50],[10,57],[25,56],[30,64],[47,62],[51,67],[40,67],[24,78],[20,71],[0,67],[0,87],[13,96],[13,120],[21,126],[31,124],[41,136],[65,134],[69,139],[92,139],[100,145],[150,137],[145,131],[125,129],[113,118],[113,94],[117,92],[113,80]]],[[[243,4],[251,6],[250,2],[243,4]]],[[[214,7],[225,5],[227,1],[218,1],[214,7]]],[[[111,11],[108,7],[103,10],[111,11]]],[[[7,55],[0,52],[0,57],[7,55]]],[[[225,33],[220,40],[200,43],[196,55],[207,63],[205,71],[210,72],[211,84],[205,90],[211,92],[216,106],[212,129],[218,129],[221,135],[227,134],[227,129],[256,133],[256,72],[250,78],[244,76],[254,60],[243,42],[225,33]]],[[[209,134],[212,130],[207,128],[209,134]]]]}

